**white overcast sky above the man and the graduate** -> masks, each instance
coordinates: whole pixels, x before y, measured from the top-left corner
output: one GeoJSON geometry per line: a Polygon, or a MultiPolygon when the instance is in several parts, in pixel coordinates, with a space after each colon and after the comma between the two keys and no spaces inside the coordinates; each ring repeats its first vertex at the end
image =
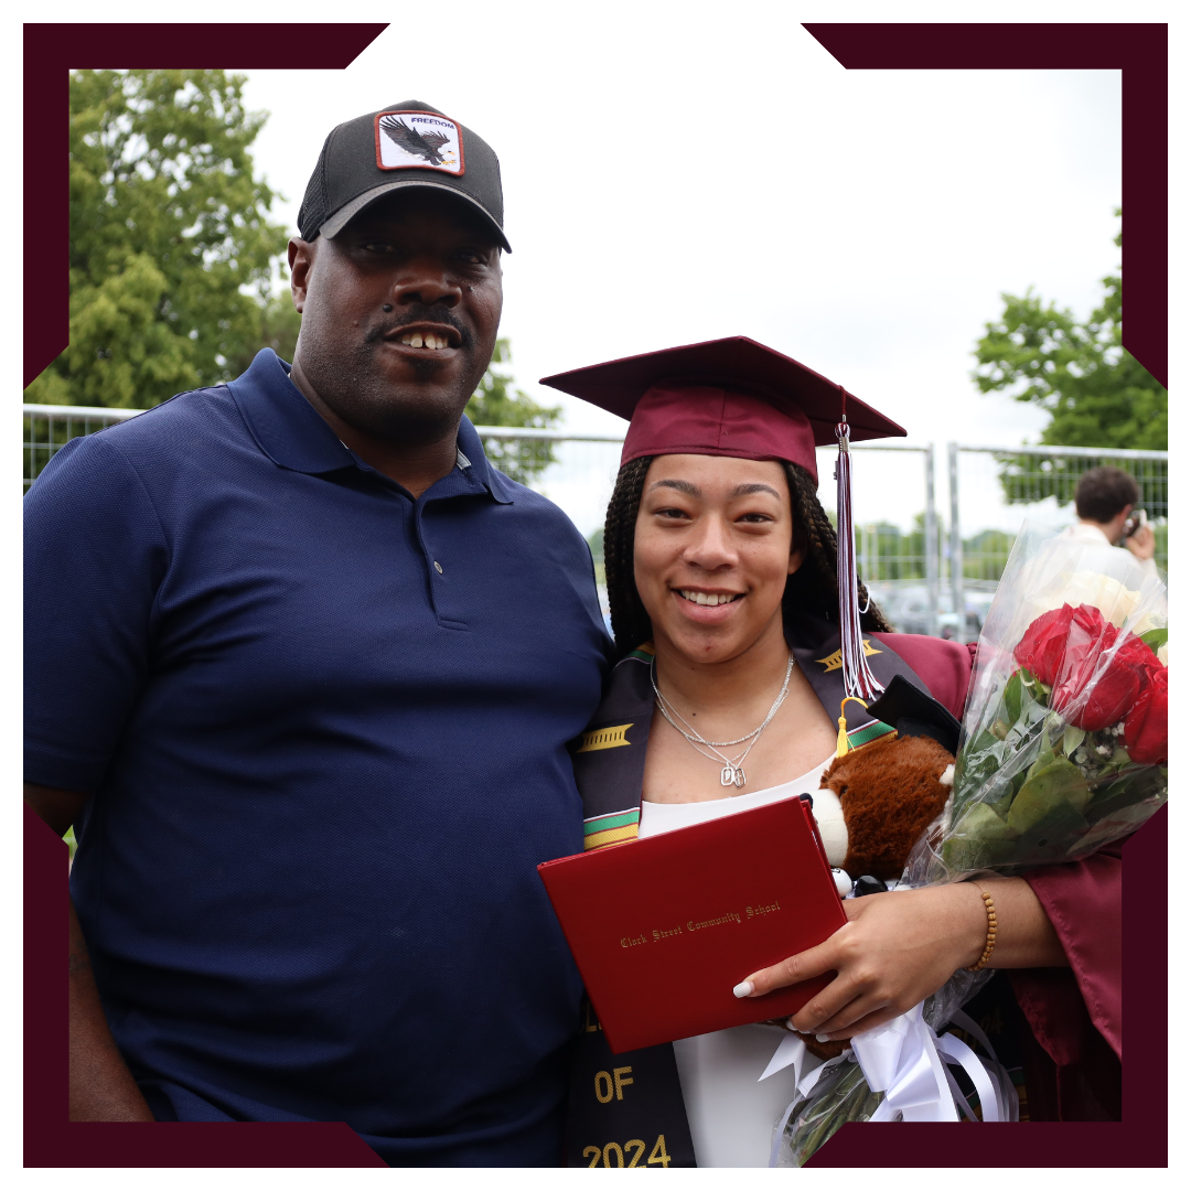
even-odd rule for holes
{"type": "Polygon", "coordinates": [[[1046,417],[981,397],[972,348],[1002,292],[1083,317],[1120,260],[1116,70],[844,70],[799,25],[394,24],[347,70],[242,73],[291,227],[343,120],[416,99],[492,144],[501,333],[574,430],[624,423],[537,378],[743,333],[912,442],[1036,442],[1046,417]]]}

